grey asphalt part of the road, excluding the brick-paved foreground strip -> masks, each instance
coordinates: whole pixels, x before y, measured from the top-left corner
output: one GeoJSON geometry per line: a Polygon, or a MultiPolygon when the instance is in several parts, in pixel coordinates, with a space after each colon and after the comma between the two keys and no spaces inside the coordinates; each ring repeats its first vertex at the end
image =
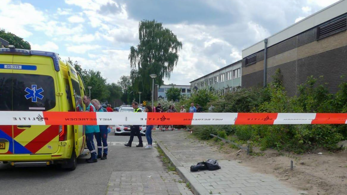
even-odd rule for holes
{"type": "MultiPolygon", "coordinates": [[[[146,138],[143,136],[146,143],[146,138]]],[[[46,194],[105,194],[112,171],[165,171],[158,152],[125,147],[129,136],[114,136],[110,133],[107,160],[97,163],[85,162],[90,155],[78,159],[74,171],[59,170],[56,167],[11,167],[0,163],[0,195],[46,195],[46,194]]]]}

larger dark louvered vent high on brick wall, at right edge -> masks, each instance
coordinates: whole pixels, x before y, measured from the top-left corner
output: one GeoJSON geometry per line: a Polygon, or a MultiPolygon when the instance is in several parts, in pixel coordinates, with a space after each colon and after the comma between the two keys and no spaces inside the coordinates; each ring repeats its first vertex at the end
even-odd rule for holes
{"type": "Polygon", "coordinates": [[[324,23],[317,28],[317,39],[323,39],[330,35],[346,31],[347,29],[347,15],[340,16],[333,20],[324,23]]]}

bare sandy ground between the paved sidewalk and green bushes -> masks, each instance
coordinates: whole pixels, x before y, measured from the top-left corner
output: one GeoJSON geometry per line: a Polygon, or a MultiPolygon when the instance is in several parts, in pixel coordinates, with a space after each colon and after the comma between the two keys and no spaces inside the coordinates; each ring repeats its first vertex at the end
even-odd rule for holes
{"type": "Polygon", "coordinates": [[[247,151],[238,154],[228,144],[220,146],[211,141],[230,160],[251,167],[255,172],[276,176],[289,186],[306,191],[309,195],[347,195],[347,151],[331,153],[315,150],[307,154],[277,152],[276,150],[259,151],[253,148],[253,155],[247,151]],[[317,153],[323,154],[317,154],[317,153]],[[294,168],[290,170],[290,161],[294,168]]]}

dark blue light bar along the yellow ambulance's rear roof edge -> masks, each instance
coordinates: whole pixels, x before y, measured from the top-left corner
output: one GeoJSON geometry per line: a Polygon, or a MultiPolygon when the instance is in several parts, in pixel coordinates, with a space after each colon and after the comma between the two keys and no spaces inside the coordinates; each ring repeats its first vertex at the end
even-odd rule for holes
{"type": "Polygon", "coordinates": [[[25,55],[25,56],[34,55],[34,56],[50,57],[53,60],[54,70],[56,70],[57,72],[60,71],[59,56],[57,53],[46,52],[46,51],[25,50],[25,49],[0,48],[0,54],[16,54],[16,55],[25,55]]]}

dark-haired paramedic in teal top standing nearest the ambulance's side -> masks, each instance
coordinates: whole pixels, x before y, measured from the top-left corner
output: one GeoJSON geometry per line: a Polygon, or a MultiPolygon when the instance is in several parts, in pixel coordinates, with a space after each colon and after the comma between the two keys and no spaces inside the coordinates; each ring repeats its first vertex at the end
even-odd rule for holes
{"type": "MultiPolygon", "coordinates": [[[[85,95],[83,97],[83,103],[86,105],[85,112],[96,112],[89,96],[85,95]]],[[[90,159],[86,159],[88,163],[98,162],[94,145],[94,133],[99,132],[98,125],[85,125],[86,143],[91,155],[90,159]]]]}

